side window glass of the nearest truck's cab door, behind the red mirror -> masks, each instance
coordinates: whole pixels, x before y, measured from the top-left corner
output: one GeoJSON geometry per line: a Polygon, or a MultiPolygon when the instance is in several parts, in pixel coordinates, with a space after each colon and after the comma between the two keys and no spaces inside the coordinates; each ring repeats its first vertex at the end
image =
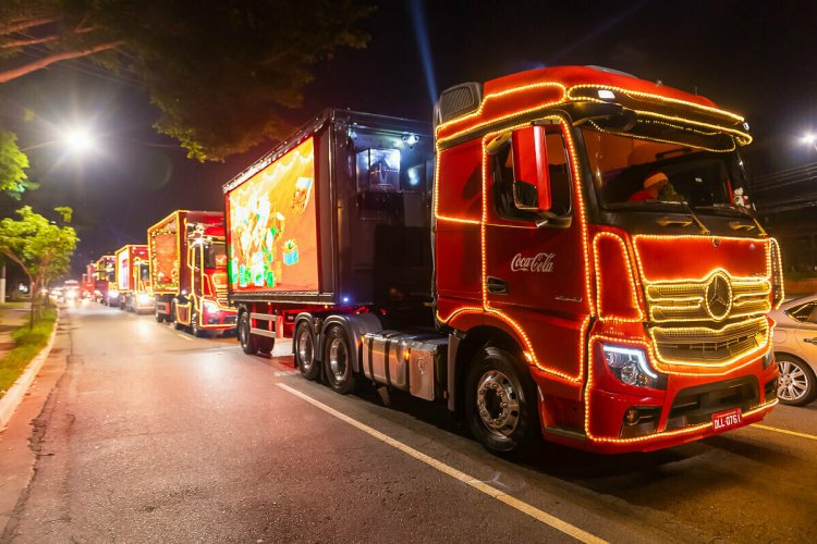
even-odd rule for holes
{"type": "MultiPolygon", "coordinates": [[[[564,137],[557,127],[545,133],[550,171],[551,213],[563,217],[571,212],[571,174],[568,148],[564,137]]],[[[536,211],[522,210],[514,205],[513,150],[510,139],[493,156],[493,191],[497,213],[505,219],[537,221],[541,215],[536,211]]]]}

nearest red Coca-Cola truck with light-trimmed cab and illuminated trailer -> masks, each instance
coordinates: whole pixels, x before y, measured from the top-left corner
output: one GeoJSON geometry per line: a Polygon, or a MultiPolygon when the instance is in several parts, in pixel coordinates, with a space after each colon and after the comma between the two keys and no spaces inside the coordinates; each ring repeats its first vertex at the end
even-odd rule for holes
{"type": "Polygon", "coordinates": [[[744,120],[565,66],[442,92],[422,123],[328,110],[224,186],[244,350],[293,336],[309,380],[462,415],[495,453],[538,434],[650,450],[777,405],[780,251],[744,120]]]}

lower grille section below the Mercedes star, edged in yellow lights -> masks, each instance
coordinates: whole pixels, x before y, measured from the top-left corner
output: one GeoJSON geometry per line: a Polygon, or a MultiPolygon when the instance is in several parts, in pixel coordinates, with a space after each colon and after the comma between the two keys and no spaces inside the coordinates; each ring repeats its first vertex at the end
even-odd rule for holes
{"type": "Polygon", "coordinates": [[[658,358],[669,364],[730,364],[737,358],[759,351],[769,341],[769,322],[759,317],[724,325],[654,326],[649,330],[658,358]]]}

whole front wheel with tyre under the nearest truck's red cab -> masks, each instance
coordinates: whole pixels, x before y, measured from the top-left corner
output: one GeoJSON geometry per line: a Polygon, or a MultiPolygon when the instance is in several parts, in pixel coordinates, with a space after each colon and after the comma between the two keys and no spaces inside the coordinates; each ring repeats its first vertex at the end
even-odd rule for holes
{"type": "Polygon", "coordinates": [[[522,363],[497,347],[480,350],[468,369],[465,416],[492,454],[516,454],[538,436],[536,391],[522,363]]]}

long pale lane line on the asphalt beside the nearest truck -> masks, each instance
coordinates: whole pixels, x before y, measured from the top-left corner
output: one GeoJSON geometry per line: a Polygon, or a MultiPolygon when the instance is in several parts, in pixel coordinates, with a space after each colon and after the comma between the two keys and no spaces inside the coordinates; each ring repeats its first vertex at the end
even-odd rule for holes
{"type": "Polygon", "coordinates": [[[522,514],[526,514],[531,516],[532,518],[536,519],[537,521],[540,521],[547,526],[552,527],[553,529],[563,532],[564,534],[568,534],[570,536],[573,536],[580,542],[586,542],[586,543],[593,543],[593,544],[602,544],[607,541],[599,539],[598,536],[590,534],[586,531],[583,531],[582,529],[578,529],[575,526],[572,526],[568,523],[566,521],[562,521],[561,519],[557,518],[556,516],[548,514],[544,510],[540,510],[536,508],[535,506],[532,506],[527,503],[524,503],[520,500],[519,498],[512,497],[511,495],[497,490],[496,487],[492,487],[488,485],[487,483],[484,483],[476,478],[466,474],[465,472],[461,472],[460,470],[456,470],[453,467],[450,467],[446,465],[442,461],[439,461],[435,459],[434,457],[430,457],[422,452],[418,452],[417,449],[414,449],[413,447],[403,444],[402,442],[392,438],[391,436],[381,433],[380,431],[377,431],[369,425],[362,423],[357,421],[356,419],[352,419],[345,413],[342,413],[334,408],[330,408],[329,406],[325,405],[324,403],[320,403],[318,400],[315,400],[308,395],[305,395],[304,393],[301,393],[297,390],[294,390],[286,384],[283,383],[277,383],[279,387],[284,390],[286,393],[290,393],[292,395],[295,395],[296,397],[302,398],[303,400],[306,400],[310,405],[320,408],[325,412],[329,413],[330,416],[334,416],[336,418],[340,419],[341,421],[349,423],[350,425],[365,432],[366,434],[374,436],[375,438],[379,440],[380,442],[385,442],[386,444],[400,449],[406,455],[410,455],[411,457],[414,457],[418,461],[425,462],[431,468],[435,468],[439,470],[440,472],[443,472],[454,480],[459,480],[467,485],[471,485],[477,491],[480,491],[488,495],[489,497],[496,498],[497,500],[507,504],[508,506],[517,509],[522,514]]]}

